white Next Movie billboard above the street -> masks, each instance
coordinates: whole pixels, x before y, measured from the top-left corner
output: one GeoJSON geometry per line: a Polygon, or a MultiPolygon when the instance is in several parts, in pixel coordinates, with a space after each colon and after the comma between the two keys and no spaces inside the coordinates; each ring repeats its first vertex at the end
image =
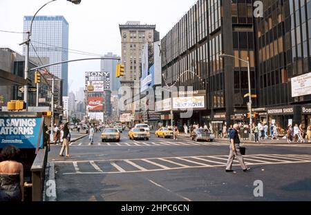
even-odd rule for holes
{"type": "Polygon", "coordinates": [[[204,109],[205,96],[188,96],[173,98],[173,109],[204,109]]]}

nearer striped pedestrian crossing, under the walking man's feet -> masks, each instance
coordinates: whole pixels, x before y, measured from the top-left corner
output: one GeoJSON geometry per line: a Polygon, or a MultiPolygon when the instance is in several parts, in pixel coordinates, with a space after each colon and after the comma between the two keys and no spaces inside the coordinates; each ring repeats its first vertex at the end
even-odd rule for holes
{"type": "MultiPolygon", "coordinates": [[[[227,155],[180,156],[164,158],[111,159],[97,161],[54,161],[56,165],[66,165],[64,175],[73,174],[125,174],[181,170],[191,168],[225,167],[227,155]]],[[[310,154],[253,154],[243,156],[246,165],[276,165],[311,163],[310,154]]],[[[234,166],[240,168],[238,161],[234,166]]]]}

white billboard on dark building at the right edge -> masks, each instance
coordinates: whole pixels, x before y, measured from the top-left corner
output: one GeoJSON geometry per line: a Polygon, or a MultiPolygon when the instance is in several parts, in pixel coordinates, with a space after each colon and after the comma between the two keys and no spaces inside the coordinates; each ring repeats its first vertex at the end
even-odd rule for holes
{"type": "Polygon", "coordinates": [[[311,72],[292,78],[292,97],[311,94],[311,72]]]}

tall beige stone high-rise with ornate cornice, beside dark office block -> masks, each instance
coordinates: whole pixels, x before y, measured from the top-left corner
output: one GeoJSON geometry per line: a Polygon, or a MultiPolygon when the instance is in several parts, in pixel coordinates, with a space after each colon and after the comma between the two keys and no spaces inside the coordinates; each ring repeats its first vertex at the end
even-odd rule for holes
{"type": "Polygon", "coordinates": [[[122,37],[122,64],[125,66],[121,83],[133,88],[133,82],[140,81],[143,45],[153,43],[159,33],[156,25],[141,25],[140,21],[127,21],[125,25],[119,25],[119,28],[122,37]]]}

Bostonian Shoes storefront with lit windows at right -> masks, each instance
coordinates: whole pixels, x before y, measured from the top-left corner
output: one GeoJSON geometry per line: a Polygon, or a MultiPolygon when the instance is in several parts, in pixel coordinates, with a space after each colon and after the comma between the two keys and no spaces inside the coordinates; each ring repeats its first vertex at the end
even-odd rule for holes
{"type": "MultiPolygon", "coordinates": [[[[281,129],[286,130],[288,125],[300,123],[296,116],[297,106],[271,107],[267,108],[268,124],[279,125],[281,129]]],[[[299,111],[300,112],[300,111],[299,111]]],[[[284,131],[283,131],[284,132],[284,131]]]]}

